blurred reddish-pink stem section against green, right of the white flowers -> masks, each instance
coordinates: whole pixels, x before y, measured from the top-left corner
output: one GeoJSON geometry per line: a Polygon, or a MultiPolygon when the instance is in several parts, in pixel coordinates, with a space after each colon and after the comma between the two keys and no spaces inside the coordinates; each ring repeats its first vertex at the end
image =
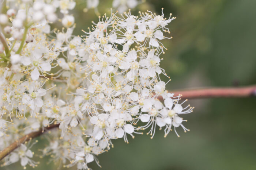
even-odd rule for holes
{"type": "Polygon", "coordinates": [[[184,99],[216,97],[250,97],[256,96],[256,85],[237,88],[205,88],[170,91],[174,96],[182,95],[184,99]]]}

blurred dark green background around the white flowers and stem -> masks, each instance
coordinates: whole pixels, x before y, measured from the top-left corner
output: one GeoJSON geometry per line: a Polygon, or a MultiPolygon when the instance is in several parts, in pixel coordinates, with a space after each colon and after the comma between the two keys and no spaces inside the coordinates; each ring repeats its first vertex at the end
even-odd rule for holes
{"type": "MultiPolygon", "coordinates": [[[[111,2],[101,1],[106,11],[111,2]]],[[[74,10],[76,35],[82,35],[93,9],[84,13],[83,0],[74,10]]],[[[161,66],[171,77],[167,89],[256,84],[256,0],[147,0],[132,12],[147,9],[161,14],[161,8],[177,19],[170,24],[173,39],[161,66]]],[[[101,15],[103,15],[102,12],[101,15]]],[[[114,140],[114,148],[98,156],[93,170],[255,170],[256,98],[216,98],[189,100],[194,112],[185,115],[184,125],[163,138],[158,131],[150,136],[136,135],[129,144],[114,140]]],[[[43,145],[43,144],[42,144],[43,145]]],[[[56,169],[41,160],[38,169],[56,169]]],[[[1,169],[22,169],[19,163],[1,169]]],[[[27,167],[27,169],[32,169],[27,167]]],[[[76,169],[74,167],[73,169],[76,169]]]]}

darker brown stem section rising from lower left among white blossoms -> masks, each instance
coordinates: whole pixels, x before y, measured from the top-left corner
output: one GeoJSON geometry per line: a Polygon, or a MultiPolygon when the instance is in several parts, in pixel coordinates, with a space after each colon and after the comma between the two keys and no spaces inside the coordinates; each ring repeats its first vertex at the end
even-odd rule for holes
{"type": "Polygon", "coordinates": [[[25,136],[23,136],[22,138],[16,140],[14,143],[10,144],[7,148],[5,148],[4,150],[0,151],[0,161],[6,157],[8,154],[10,154],[13,150],[15,150],[17,147],[20,146],[20,144],[25,143],[27,141],[29,141],[30,139],[36,138],[37,136],[42,135],[45,130],[50,130],[56,127],[59,127],[60,124],[52,124],[49,125],[48,127],[45,127],[44,130],[42,128],[40,128],[38,131],[36,132],[31,132],[30,134],[27,134],[25,136]]]}

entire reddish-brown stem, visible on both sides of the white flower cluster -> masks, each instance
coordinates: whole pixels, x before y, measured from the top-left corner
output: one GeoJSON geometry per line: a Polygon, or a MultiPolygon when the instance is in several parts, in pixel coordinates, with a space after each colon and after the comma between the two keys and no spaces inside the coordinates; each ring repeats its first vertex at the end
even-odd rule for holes
{"type": "MultiPolygon", "coordinates": [[[[238,87],[238,88],[206,88],[206,89],[191,89],[191,90],[179,90],[179,91],[170,91],[174,93],[174,96],[182,95],[182,98],[214,98],[214,97],[250,97],[256,96],[256,85],[238,87]]],[[[158,97],[162,99],[161,96],[158,97]]],[[[50,130],[56,127],[59,127],[60,124],[52,124],[49,127],[46,127],[46,130],[50,130]]],[[[10,144],[7,148],[0,152],[0,160],[5,156],[10,154],[13,150],[20,146],[21,143],[36,138],[40,136],[45,131],[42,128],[36,132],[31,132],[30,134],[23,136],[19,140],[16,140],[14,143],[10,144]]]]}

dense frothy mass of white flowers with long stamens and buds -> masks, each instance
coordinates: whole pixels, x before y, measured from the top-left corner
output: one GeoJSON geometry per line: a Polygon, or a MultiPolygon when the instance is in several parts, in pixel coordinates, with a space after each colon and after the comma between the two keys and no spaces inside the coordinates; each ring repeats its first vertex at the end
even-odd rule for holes
{"type": "MultiPolygon", "coordinates": [[[[183,107],[185,101],[168,93],[160,80],[161,74],[166,76],[159,66],[165,50],[161,40],[171,38],[164,36],[175,19],[171,15],[105,14],[84,35],[74,36],[69,10],[75,1],[4,3],[0,24],[8,38],[1,33],[1,150],[23,135],[59,124],[59,130],[48,134],[41,157],[52,155],[64,167],[89,169],[87,163],[98,164],[95,155],[109,150],[113,139],[128,143],[129,135],[143,130],[153,138],[157,127],[165,136],[172,129],[177,134],[177,127],[187,131],[180,116],[193,108],[183,107]],[[52,28],[54,22],[65,28],[52,28]]],[[[33,144],[22,144],[3,165],[20,161],[24,168],[37,166],[33,144]]]]}

